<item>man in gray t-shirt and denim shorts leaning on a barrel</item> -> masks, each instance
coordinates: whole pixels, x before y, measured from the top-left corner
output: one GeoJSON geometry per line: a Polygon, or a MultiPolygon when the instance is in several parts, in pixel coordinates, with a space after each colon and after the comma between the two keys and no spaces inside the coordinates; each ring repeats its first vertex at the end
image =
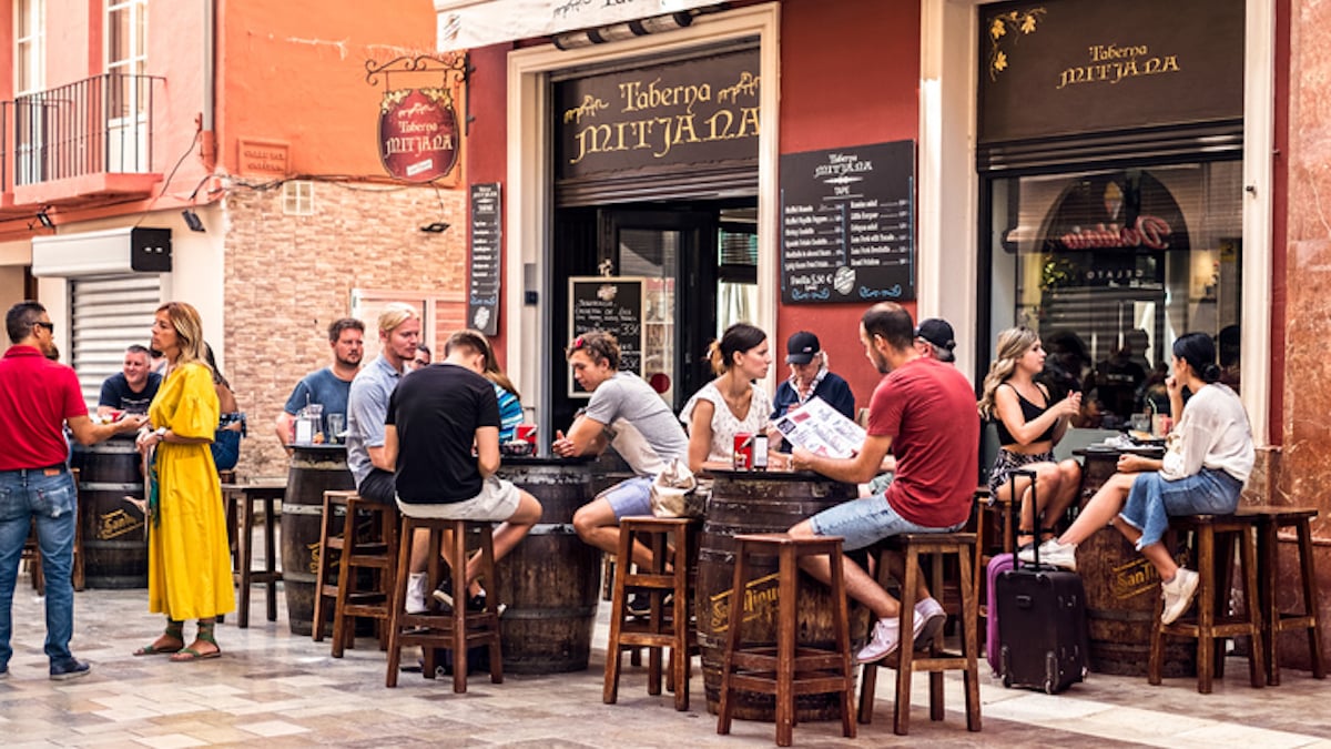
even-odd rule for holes
{"type": "MultiPolygon", "coordinates": [[[[555,453],[600,454],[614,445],[638,474],[606,489],[574,514],[574,529],[583,541],[614,553],[619,549],[619,518],[652,513],[652,478],[671,458],[687,457],[688,437],[656,390],[632,372],[619,371],[615,336],[600,331],[578,336],[568,347],[568,364],[578,384],[591,390],[591,401],[567,437],[555,433],[555,453]]],[[[634,561],[647,565],[651,560],[646,546],[634,548],[634,561]]]]}

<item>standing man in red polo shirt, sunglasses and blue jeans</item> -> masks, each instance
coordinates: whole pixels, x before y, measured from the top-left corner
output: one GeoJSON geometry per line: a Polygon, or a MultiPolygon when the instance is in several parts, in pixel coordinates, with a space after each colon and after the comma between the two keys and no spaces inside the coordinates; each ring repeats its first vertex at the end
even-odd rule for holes
{"type": "Polygon", "coordinates": [[[133,432],[145,417],[93,424],[75,371],[47,359],[56,351],[56,327],[47,308],[21,301],[5,315],[13,345],[0,359],[0,678],[9,676],[13,648],[11,604],[19,557],[32,522],[47,573],[47,657],[51,678],[63,681],[88,673],[88,664],[69,652],[75,624],[73,564],[77,502],[65,458],[69,424],[83,445],[121,432],[133,432]]]}

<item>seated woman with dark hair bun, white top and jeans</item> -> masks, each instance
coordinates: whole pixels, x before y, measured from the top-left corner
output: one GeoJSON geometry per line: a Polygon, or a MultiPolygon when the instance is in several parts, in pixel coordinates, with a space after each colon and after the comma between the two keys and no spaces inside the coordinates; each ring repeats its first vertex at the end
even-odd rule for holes
{"type": "Polygon", "coordinates": [[[1169,517],[1234,512],[1255,458],[1243,402],[1219,378],[1210,336],[1187,333],[1174,341],[1174,373],[1165,386],[1170,413],[1182,416],[1166,437],[1165,458],[1119,456],[1119,472],[1095,492],[1073,526],[1040,546],[1042,561],[1075,569],[1077,544],[1113,522],[1163,581],[1161,622],[1170,624],[1189,609],[1198,574],[1178,566],[1161,542],[1169,517]],[[1187,405],[1183,388],[1193,393],[1187,405]]]}

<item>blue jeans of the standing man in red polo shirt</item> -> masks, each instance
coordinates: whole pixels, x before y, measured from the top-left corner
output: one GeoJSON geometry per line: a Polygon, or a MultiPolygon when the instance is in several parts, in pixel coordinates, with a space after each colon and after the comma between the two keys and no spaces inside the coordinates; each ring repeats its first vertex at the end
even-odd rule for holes
{"type": "Polygon", "coordinates": [[[13,648],[11,606],[19,557],[32,522],[37,522],[41,568],[47,578],[47,657],[67,664],[75,629],[75,552],[77,493],[69,469],[0,470],[0,668],[9,668],[13,648]]]}

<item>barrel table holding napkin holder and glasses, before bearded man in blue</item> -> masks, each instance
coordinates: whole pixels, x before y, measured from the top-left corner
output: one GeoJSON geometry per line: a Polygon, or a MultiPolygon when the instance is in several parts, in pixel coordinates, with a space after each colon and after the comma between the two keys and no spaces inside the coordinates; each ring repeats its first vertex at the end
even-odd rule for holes
{"type": "Polygon", "coordinates": [[[323,492],[333,489],[355,489],[346,466],[346,445],[291,445],[282,500],[282,588],[291,634],[314,630],[323,492]]]}

